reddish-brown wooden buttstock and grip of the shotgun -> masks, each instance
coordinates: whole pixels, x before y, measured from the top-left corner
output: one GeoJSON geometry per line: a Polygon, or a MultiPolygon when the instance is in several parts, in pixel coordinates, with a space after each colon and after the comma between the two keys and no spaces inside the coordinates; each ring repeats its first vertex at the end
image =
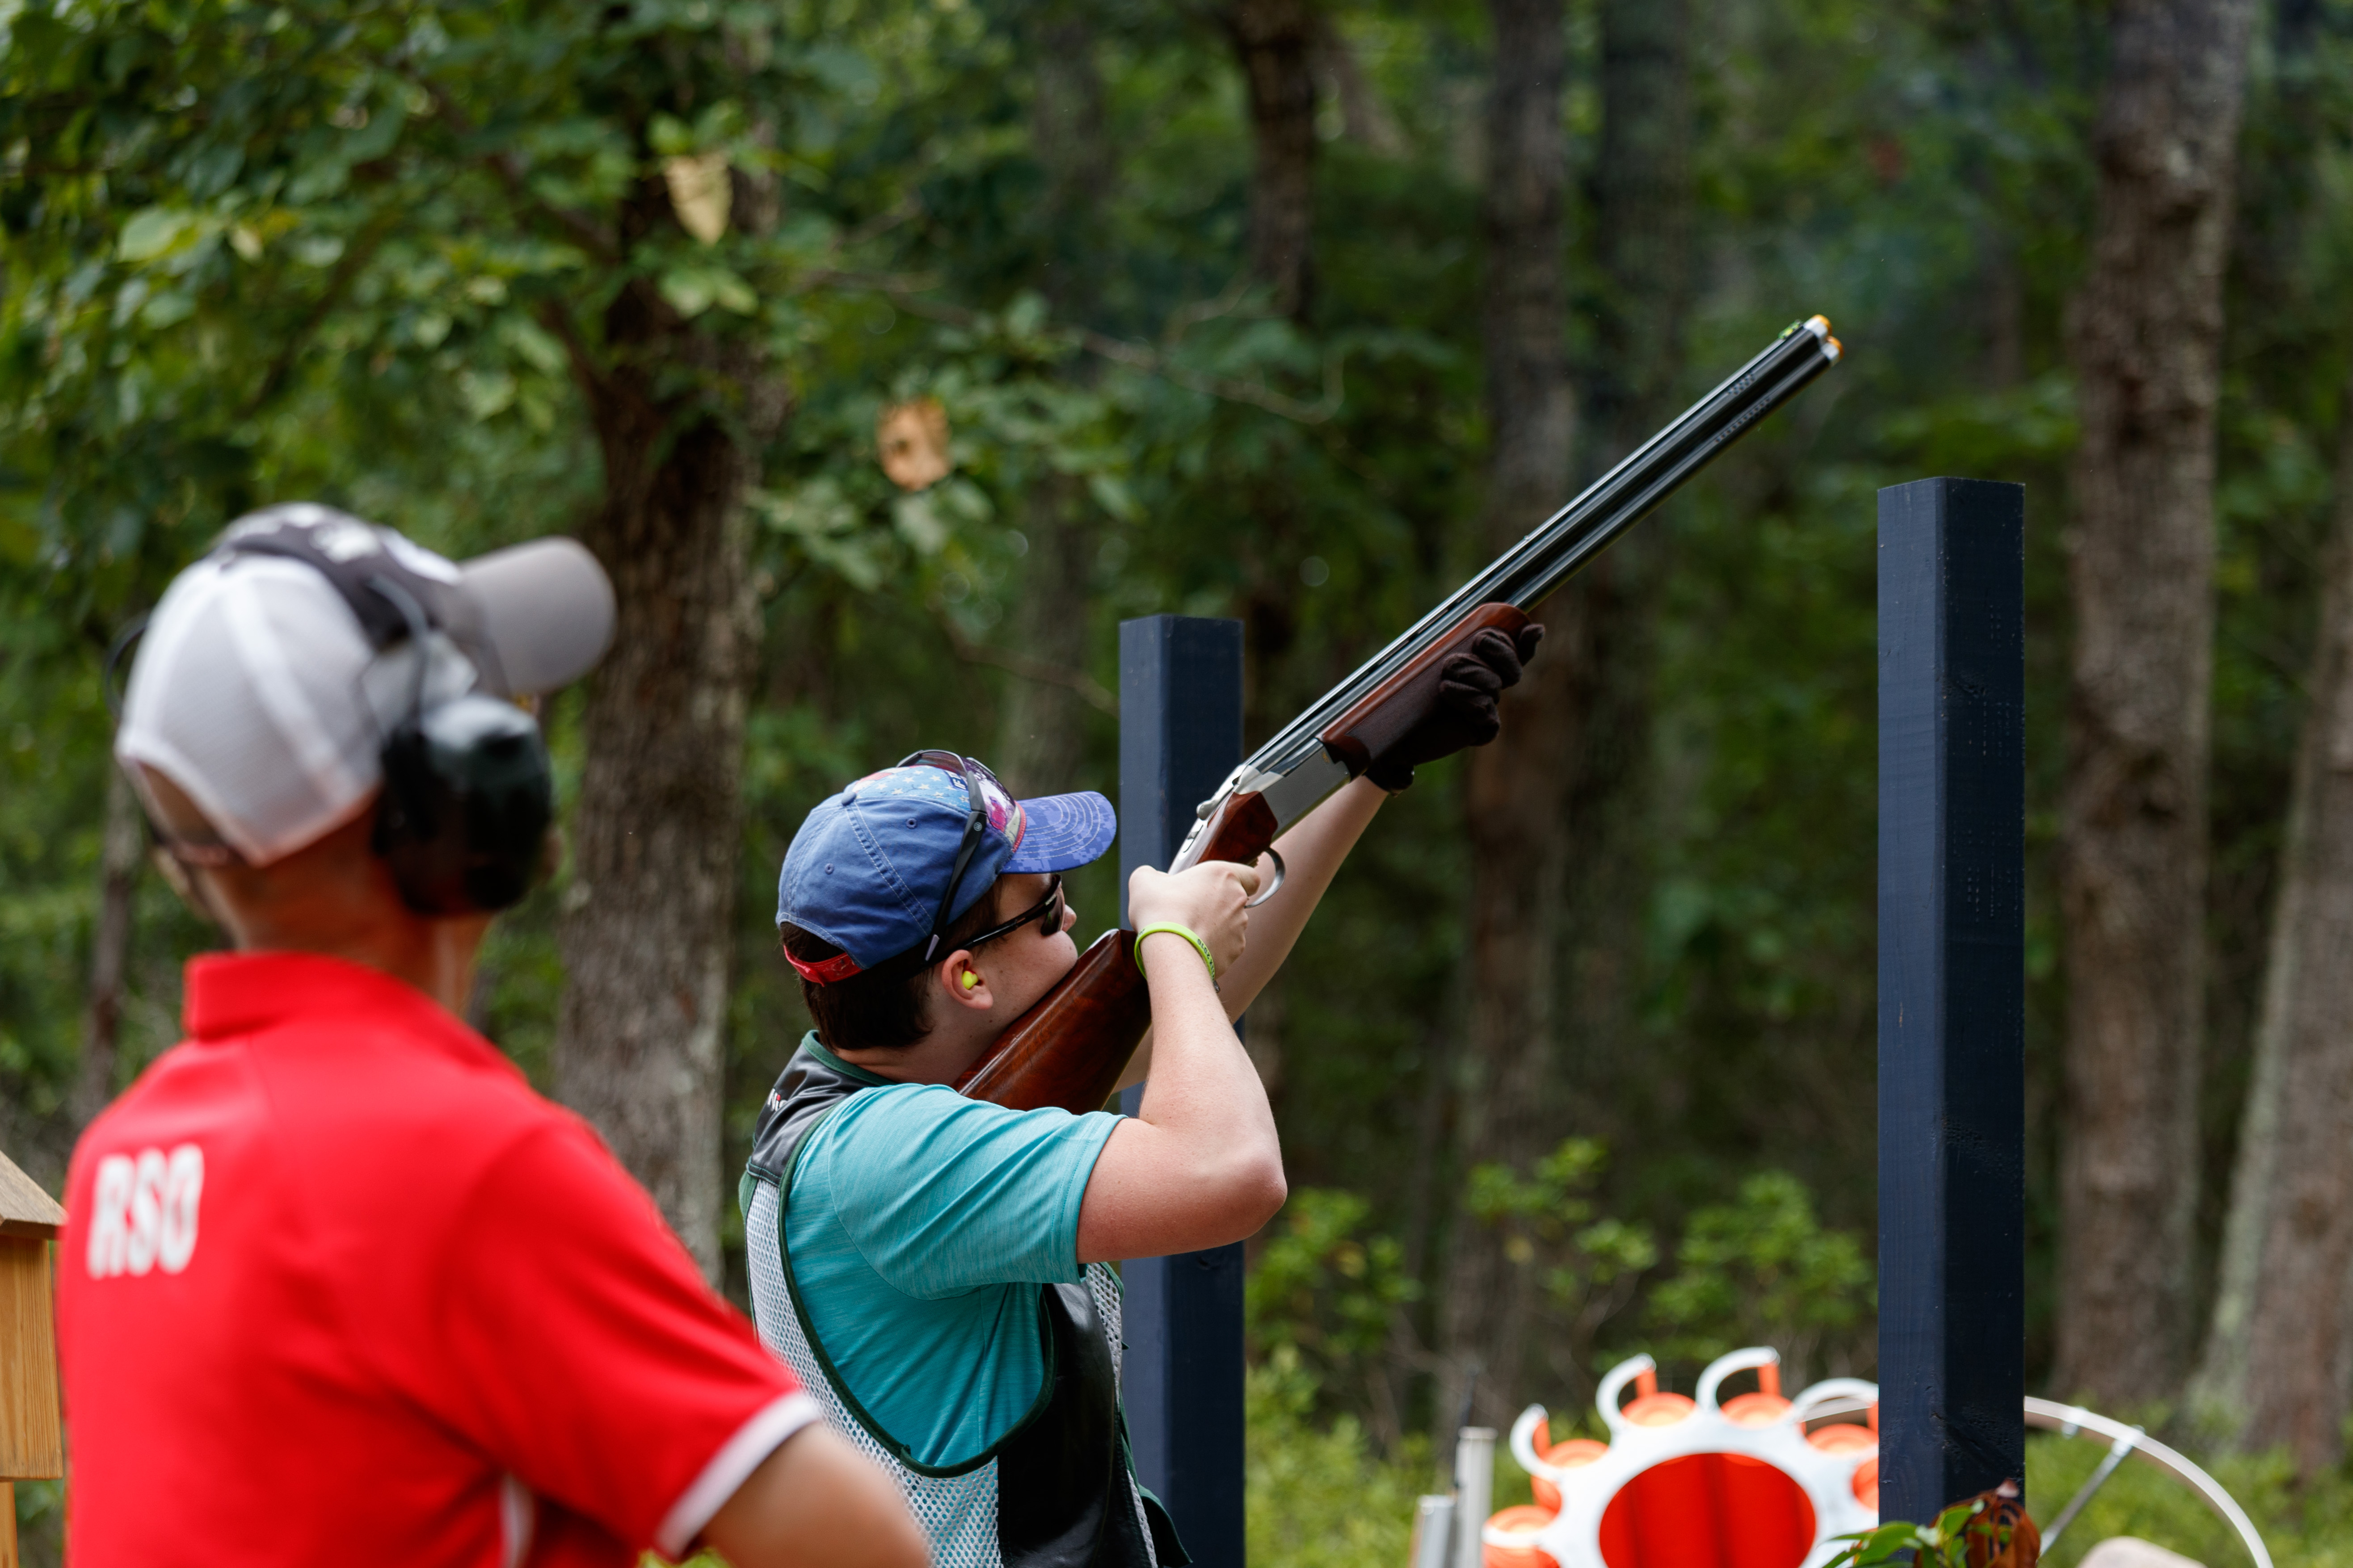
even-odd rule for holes
{"type": "MultiPolygon", "coordinates": [[[[1209,820],[1202,860],[1249,865],[1275,839],[1275,813],[1257,795],[1228,795],[1209,820]]],[[[998,1044],[955,1081],[955,1091],[1009,1110],[1059,1105],[1104,1110],[1153,1023],[1153,997],[1136,971],[1136,938],[1106,931],[998,1044]]]]}

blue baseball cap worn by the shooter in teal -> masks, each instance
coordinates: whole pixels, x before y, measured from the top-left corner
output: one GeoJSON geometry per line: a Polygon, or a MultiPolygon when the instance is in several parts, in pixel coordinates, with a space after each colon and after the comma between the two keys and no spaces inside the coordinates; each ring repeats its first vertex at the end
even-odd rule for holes
{"type": "MultiPolygon", "coordinates": [[[[988,769],[967,759],[967,771],[988,827],[955,884],[948,919],[976,905],[1000,875],[1087,865],[1120,832],[1111,802],[1092,790],[1014,799],[988,769]]],[[[842,957],[793,969],[819,985],[847,980],[927,938],[969,816],[965,778],[934,764],[868,773],[809,811],[784,851],[776,924],[795,924],[842,957]]]]}

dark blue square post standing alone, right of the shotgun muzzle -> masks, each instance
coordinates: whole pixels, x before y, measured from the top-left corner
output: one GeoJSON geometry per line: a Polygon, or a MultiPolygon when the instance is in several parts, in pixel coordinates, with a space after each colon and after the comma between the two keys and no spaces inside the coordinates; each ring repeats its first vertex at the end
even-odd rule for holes
{"type": "Polygon", "coordinates": [[[2026,1474],[2026,491],[1880,491],[1880,1519],[2026,1474]]]}

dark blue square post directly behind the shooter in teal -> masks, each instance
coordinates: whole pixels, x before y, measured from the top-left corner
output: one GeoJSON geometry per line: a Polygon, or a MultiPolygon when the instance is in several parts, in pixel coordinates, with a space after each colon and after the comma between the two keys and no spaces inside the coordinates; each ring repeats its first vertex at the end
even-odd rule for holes
{"type": "MultiPolygon", "coordinates": [[[[1120,917],[1242,759],[1242,623],[1120,623],[1120,917]]],[[[1141,1091],[1122,1107],[1134,1112],[1141,1091]]],[[[1202,1568],[1242,1568],[1242,1246],[1129,1258],[1125,1399],[1136,1476],[1202,1568]]]]}

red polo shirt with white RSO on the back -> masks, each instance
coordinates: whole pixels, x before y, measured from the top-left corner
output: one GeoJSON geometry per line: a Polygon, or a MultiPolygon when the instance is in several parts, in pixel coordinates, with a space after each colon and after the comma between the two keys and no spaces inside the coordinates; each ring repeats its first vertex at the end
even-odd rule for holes
{"type": "Polygon", "coordinates": [[[588,1126],[374,969],[188,966],[59,1246],[78,1568],[682,1556],[814,1401],[588,1126]]]}

